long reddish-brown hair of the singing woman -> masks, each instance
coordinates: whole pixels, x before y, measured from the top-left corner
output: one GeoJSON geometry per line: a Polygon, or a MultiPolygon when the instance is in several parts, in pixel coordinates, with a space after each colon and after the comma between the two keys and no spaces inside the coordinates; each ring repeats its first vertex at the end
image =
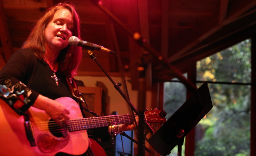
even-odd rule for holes
{"type": "MultiPolygon", "coordinates": [[[[54,14],[58,10],[67,9],[73,17],[74,29],[73,36],[80,38],[80,19],[72,3],[63,2],[58,3],[51,8],[41,17],[34,29],[31,31],[27,41],[23,44],[22,48],[30,48],[34,51],[40,60],[43,60],[45,50],[45,29],[48,23],[53,19],[54,14]]],[[[66,76],[72,77],[80,62],[82,60],[82,48],[78,46],[68,45],[62,49],[58,56],[58,70],[63,72],[66,76]]]]}

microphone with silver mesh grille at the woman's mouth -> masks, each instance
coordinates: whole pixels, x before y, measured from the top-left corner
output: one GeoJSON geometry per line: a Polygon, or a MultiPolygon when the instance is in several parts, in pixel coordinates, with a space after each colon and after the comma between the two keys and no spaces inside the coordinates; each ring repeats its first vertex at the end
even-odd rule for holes
{"type": "Polygon", "coordinates": [[[89,50],[101,50],[101,51],[105,51],[105,52],[112,53],[112,54],[115,53],[114,51],[112,51],[108,48],[105,48],[101,45],[97,45],[97,44],[94,44],[94,43],[91,43],[91,42],[80,40],[76,36],[71,36],[68,39],[68,42],[71,46],[81,46],[81,47],[85,47],[86,49],[89,49],[89,50]]]}

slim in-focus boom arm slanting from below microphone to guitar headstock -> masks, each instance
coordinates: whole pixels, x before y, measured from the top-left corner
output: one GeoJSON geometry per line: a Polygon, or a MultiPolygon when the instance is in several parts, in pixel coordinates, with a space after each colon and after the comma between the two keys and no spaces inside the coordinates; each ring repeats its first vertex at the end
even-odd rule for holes
{"type": "MultiPolygon", "coordinates": [[[[127,98],[127,96],[123,93],[123,91],[120,89],[119,84],[115,83],[114,80],[108,75],[108,73],[103,69],[103,67],[101,66],[101,64],[98,62],[98,60],[96,59],[95,54],[91,51],[88,50],[87,51],[89,56],[91,57],[92,60],[94,60],[98,66],[101,68],[101,70],[105,73],[105,75],[108,77],[108,79],[112,82],[112,84],[114,84],[114,87],[116,88],[116,90],[121,94],[121,96],[123,96],[123,98],[125,99],[125,101],[129,104],[129,106],[133,109],[133,111],[136,113],[136,115],[138,115],[140,117],[140,113],[139,111],[133,106],[132,102],[130,102],[130,100],[127,98]]],[[[151,134],[155,133],[155,131],[151,128],[151,126],[147,123],[147,121],[143,118],[143,120],[141,118],[139,118],[139,121],[142,121],[143,124],[145,124],[145,126],[148,128],[148,130],[150,131],[151,134]]],[[[139,123],[142,124],[142,123],[139,123]]]]}

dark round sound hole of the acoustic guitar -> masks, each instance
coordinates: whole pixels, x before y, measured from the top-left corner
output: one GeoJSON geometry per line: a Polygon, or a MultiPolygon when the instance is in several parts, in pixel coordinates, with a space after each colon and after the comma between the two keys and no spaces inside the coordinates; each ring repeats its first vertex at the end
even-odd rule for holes
{"type": "Polygon", "coordinates": [[[48,127],[52,135],[56,137],[66,137],[67,136],[67,127],[66,125],[58,125],[53,119],[48,122],[48,127]]]}

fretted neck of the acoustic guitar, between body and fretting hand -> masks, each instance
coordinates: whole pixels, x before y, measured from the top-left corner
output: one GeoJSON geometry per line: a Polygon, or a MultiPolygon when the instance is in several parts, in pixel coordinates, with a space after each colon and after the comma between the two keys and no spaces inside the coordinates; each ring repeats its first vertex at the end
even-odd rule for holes
{"type": "Polygon", "coordinates": [[[71,119],[68,121],[67,129],[72,131],[87,130],[91,128],[107,127],[117,124],[133,123],[134,118],[132,114],[126,115],[109,115],[93,118],[71,119]]]}

